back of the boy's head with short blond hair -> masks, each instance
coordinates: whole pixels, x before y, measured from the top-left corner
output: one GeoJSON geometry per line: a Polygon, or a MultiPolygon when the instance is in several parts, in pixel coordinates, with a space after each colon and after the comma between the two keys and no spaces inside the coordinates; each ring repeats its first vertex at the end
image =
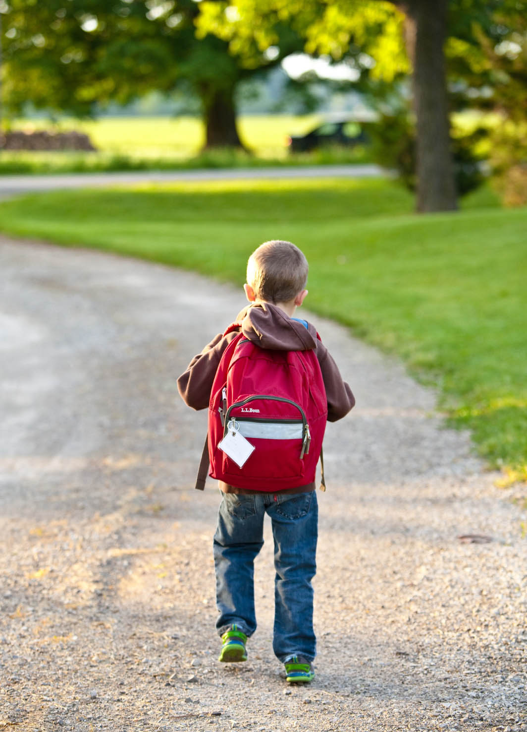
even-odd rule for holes
{"type": "Polygon", "coordinates": [[[291,242],[261,244],[247,262],[247,284],[258,300],[290,302],[306,287],[308,261],[291,242]]]}

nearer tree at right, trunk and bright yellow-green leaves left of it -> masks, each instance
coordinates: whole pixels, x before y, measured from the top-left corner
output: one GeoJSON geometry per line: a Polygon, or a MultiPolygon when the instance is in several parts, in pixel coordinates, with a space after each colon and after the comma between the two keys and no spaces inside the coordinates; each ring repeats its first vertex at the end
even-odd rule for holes
{"type": "Polygon", "coordinates": [[[450,154],[444,42],[447,2],[436,0],[318,0],[301,8],[284,0],[203,0],[199,23],[230,41],[232,52],[251,45],[271,45],[278,20],[287,20],[306,40],[308,53],[346,59],[384,80],[412,68],[417,118],[417,210],[455,209],[456,193],[450,154]],[[406,40],[406,54],[403,51],[406,40]]]}

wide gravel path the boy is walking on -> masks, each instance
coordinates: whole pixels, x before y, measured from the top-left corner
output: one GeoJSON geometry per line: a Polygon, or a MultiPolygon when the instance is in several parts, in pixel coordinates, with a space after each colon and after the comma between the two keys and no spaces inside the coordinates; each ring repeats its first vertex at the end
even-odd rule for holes
{"type": "Polygon", "coordinates": [[[249,661],[216,661],[219,495],[175,388],[241,289],[9,239],[0,268],[0,729],[527,728],[525,496],[433,392],[313,318],[357,408],[327,430],[316,679],[287,688],[269,541],[249,661]]]}

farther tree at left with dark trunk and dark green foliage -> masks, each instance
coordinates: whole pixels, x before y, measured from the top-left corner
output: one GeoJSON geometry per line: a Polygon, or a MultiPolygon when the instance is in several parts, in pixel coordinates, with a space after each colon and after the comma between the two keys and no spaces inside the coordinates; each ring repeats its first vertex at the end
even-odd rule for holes
{"type": "Polygon", "coordinates": [[[86,116],[110,100],[145,91],[192,91],[202,104],[206,146],[240,146],[235,92],[302,41],[282,24],[276,49],[229,51],[221,34],[199,29],[193,0],[6,0],[7,108],[86,116]]]}

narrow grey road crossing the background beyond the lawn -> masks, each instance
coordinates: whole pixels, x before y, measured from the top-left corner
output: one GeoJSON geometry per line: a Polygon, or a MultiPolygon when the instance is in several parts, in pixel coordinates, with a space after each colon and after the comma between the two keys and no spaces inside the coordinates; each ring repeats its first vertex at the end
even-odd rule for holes
{"type": "Polygon", "coordinates": [[[69,173],[47,176],[0,176],[0,198],[19,193],[61,188],[99,187],[170,181],[213,181],[276,178],[377,178],[386,175],[377,165],[316,165],[292,168],[229,168],[194,171],[136,171],[126,173],[69,173]]]}

